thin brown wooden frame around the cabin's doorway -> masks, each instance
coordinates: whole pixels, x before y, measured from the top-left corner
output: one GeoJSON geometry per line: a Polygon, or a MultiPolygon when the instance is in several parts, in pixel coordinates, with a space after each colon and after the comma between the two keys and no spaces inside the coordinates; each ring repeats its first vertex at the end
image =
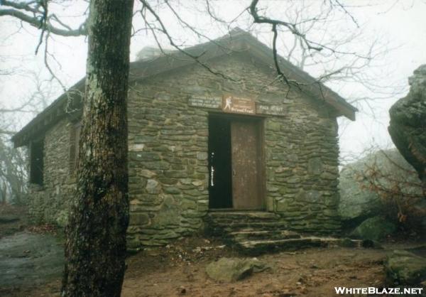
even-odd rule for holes
{"type": "MultiPolygon", "coordinates": [[[[265,119],[264,116],[259,115],[241,115],[241,114],[227,114],[224,112],[209,112],[208,117],[219,117],[219,118],[226,118],[230,121],[256,121],[256,126],[258,127],[258,153],[261,154],[259,158],[259,164],[258,164],[258,195],[261,197],[262,205],[261,208],[256,208],[254,210],[266,210],[267,203],[266,203],[266,163],[265,163],[265,119]]],[[[209,137],[209,136],[208,136],[209,137]]],[[[232,150],[232,147],[231,147],[232,150]]],[[[229,164],[229,166],[232,166],[232,164],[229,164]]],[[[208,168],[208,172],[210,173],[210,169],[208,168]]],[[[231,177],[232,178],[232,177],[231,177]]],[[[231,180],[232,181],[232,180],[231,180]]],[[[234,193],[232,193],[234,195],[234,193]]],[[[210,197],[209,197],[210,199],[210,197]]],[[[231,197],[233,199],[233,197],[231,197]]],[[[238,210],[234,208],[213,208],[209,210],[238,210]]],[[[244,209],[241,211],[246,211],[251,209],[244,209]]]]}

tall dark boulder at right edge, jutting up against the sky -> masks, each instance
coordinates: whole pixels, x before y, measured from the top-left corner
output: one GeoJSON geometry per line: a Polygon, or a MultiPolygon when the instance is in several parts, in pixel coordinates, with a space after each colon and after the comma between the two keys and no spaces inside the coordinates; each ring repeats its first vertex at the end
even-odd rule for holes
{"type": "Polygon", "coordinates": [[[391,109],[388,131],[405,160],[417,171],[426,198],[426,65],[408,79],[410,92],[391,109]]]}

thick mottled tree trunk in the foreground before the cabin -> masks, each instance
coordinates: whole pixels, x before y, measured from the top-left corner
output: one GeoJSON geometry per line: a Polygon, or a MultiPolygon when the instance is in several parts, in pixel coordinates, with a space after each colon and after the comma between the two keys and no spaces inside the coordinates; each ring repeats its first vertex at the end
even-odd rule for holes
{"type": "Polygon", "coordinates": [[[133,0],[92,0],[77,195],[62,296],[120,296],[129,224],[127,91],[133,0]]]}

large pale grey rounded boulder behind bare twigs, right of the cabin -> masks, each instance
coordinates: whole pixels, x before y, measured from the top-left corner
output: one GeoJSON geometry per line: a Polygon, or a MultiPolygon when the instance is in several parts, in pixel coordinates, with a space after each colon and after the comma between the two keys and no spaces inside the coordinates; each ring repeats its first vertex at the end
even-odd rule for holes
{"type": "Polygon", "coordinates": [[[410,205],[417,202],[416,198],[422,199],[417,173],[396,149],[375,151],[344,166],[339,179],[342,225],[353,228],[376,215],[391,215],[396,219],[396,213],[386,213],[392,207],[387,203],[393,203],[390,194],[395,188],[399,189],[398,197],[410,199],[410,205]]]}

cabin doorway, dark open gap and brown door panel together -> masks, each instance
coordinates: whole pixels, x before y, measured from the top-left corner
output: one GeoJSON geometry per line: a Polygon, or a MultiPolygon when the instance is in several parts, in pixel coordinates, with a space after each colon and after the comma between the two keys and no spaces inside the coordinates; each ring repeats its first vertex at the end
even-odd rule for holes
{"type": "Polygon", "coordinates": [[[209,117],[209,208],[261,210],[262,121],[256,117],[209,117]]]}

